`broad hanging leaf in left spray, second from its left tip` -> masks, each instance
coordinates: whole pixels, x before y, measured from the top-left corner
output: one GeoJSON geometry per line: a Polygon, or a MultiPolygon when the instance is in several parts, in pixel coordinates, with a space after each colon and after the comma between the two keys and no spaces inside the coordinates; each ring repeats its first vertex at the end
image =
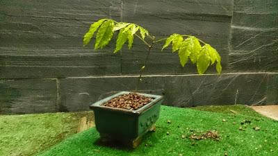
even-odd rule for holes
{"type": "Polygon", "coordinates": [[[95,42],[95,49],[102,49],[106,46],[111,38],[113,37],[113,27],[115,26],[113,20],[104,21],[104,23],[99,27],[97,32],[97,38],[95,42]]]}

